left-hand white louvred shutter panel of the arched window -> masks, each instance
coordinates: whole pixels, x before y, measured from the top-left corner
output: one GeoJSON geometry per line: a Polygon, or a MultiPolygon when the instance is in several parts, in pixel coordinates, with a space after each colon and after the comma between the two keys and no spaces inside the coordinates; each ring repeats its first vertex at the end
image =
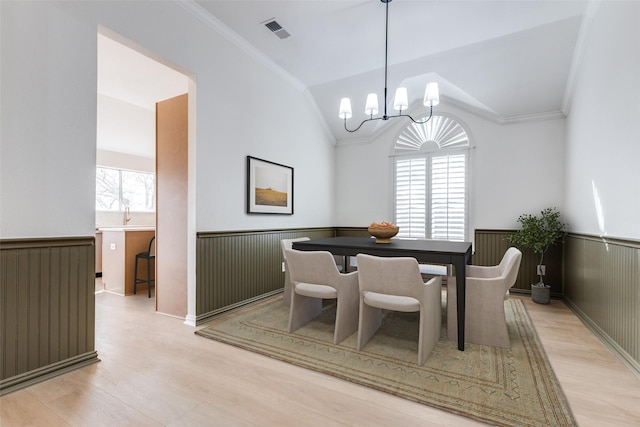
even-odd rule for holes
{"type": "Polygon", "coordinates": [[[396,161],[396,225],[398,237],[426,237],[427,159],[396,161]]]}

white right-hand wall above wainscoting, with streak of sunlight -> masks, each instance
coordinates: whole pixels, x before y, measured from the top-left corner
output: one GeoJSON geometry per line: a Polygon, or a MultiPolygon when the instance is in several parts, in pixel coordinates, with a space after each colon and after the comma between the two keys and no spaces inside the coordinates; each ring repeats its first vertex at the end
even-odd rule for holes
{"type": "Polygon", "coordinates": [[[567,120],[570,229],[640,239],[640,2],[601,2],[567,120]]]}

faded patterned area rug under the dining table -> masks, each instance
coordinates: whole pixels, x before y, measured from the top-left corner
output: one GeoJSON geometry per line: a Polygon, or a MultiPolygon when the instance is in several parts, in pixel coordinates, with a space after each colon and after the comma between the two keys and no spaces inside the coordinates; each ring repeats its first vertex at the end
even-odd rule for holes
{"type": "Polygon", "coordinates": [[[385,312],[363,351],[353,334],[333,345],[335,305],[292,334],[282,299],[223,315],[196,334],[497,426],[575,426],[522,301],[505,302],[511,348],[467,343],[446,325],[417,366],[417,314],[385,312]]]}

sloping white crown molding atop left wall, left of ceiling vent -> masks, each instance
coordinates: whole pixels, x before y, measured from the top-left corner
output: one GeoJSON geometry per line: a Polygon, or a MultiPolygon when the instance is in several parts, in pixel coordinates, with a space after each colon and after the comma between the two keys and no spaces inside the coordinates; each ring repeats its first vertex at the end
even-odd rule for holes
{"type": "Polygon", "coordinates": [[[306,89],[306,86],[300,82],[300,80],[293,77],[284,68],[280,67],[278,64],[273,62],[268,56],[264,55],[258,49],[256,49],[251,43],[243,39],[233,31],[231,28],[227,27],[222,23],[218,18],[209,13],[206,9],[196,3],[194,0],[174,0],[174,3],[178,6],[182,7],[185,11],[191,14],[193,17],[197,18],[200,22],[205,24],[207,27],[216,31],[218,34],[229,40],[231,43],[239,47],[242,51],[247,53],[249,56],[253,57],[259,62],[262,62],[267,66],[271,71],[275,74],[286,80],[293,87],[298,89],[300,92],[303,92],[306,89]]]}

